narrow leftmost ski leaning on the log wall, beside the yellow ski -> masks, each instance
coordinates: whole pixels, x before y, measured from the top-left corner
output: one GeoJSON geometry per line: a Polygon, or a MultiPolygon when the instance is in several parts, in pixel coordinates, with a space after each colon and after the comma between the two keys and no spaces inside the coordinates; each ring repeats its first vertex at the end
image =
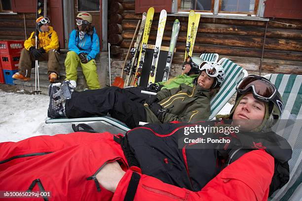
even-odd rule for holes
{"type": "Polygon", "coordinates": [[[140,30],[139,30],[139,33],[137,35],[137,38],[136,38],[136,41],[134,43],[134,47],[131,49],[130,53],[131,53],[131,59],[130,59],[130,62],[127,64],[127,66],[125,67],[124,71],[126,73],[126,77],[125,77],[125,84],[124,84],[124,87],[127,87],[129,86],[129,82],[130,82],[130,77],[132,75],[132,71],[133,71],[133,68],[135,66],[135,63],[136,63],[136,59],[137,59],[137,54],[139,52],[139,46],[141,44],[141,41],[142,41],[142,35],[143,35],[143,32],[144,32],[144,28],[145,28],[145,24],[146,24],[146,18],[147,18],[147,13],[144,12],[143,13],[143,18],[142,18],[142,23],[141,23],[141,27],[140,27],[140,30]]]}

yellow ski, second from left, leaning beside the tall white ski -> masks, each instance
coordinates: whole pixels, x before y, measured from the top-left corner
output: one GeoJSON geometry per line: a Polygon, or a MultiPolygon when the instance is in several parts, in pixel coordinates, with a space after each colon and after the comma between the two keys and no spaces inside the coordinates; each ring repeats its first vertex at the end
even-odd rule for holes
{"type": "Polygon", "coordinates": [[[145,24],[142,44],[141,44],[141,48],[140,48],[140,54],[138,57],[138,63],[137,63],[137,67],[136,67],[136,71],[135,71],[135,75],[134,75],[135,77],[134,77],[133,86],[135,86],[135,87],[138,86],[139,78],[141,77],[141,74],[142,74],[142,69],[143,69],[144,60],[145,60],[146,46],[148,43],[148,38],[149,38],[150,30],[151,30],[153,15],[154,15],[154,8],[150,7],[147,12],[147,18],[146,18],[146,24],[145,24]]]}

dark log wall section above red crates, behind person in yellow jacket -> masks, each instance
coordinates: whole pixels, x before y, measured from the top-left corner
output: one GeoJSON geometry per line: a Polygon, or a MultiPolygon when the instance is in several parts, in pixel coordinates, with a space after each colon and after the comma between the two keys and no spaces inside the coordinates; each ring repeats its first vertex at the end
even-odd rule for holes
{"type": "Polygon", "coordinates": [[[0,40],[25,40],[35,29],[36,13],[0,14],[0,40]]]}

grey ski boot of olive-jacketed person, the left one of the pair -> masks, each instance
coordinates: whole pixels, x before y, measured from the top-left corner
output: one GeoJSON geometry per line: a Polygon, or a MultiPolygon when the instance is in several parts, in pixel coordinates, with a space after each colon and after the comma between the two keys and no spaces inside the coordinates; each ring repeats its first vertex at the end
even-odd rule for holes
{"type": "MultiPolygon", "coordinates": [[[[59,83],[61,85],[61,83],[59,83]]],[[[59,84],[49,85],[49,107],[47,111],[47,116],[50,118],[64,118],[66,117],[63,106],[62,99],[62,89],[60,89],[59,84]]]]}

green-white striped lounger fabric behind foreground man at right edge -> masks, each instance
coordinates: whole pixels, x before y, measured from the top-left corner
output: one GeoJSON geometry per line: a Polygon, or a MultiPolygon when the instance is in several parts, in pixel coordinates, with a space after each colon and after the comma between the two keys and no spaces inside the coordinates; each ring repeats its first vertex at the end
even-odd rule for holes
{"type": "Polygon", "coordinates": [[[293,149],[289,161],[290,181],[269,198],[271,201],[300,200],[302,198],[302,75],[265,75],[278,89],[283,100],[280,123],[273,130],[286,138],[293,149]]]}

